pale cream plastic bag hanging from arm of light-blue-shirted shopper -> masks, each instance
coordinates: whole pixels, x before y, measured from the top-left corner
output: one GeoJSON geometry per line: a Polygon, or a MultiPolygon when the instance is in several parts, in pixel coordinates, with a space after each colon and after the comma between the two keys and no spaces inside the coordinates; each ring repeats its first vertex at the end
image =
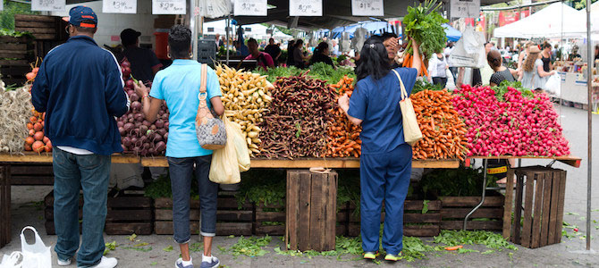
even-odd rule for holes
{"type": "MultiPolygon", "coordinates": [[[[227,131],[227,142],[224,148],[212,151],[212,163],[208,178],[220,184],[233,184],[241,181],[240,163],[237,160],[237,150],[232,122],[224,117],[224,129],[227,131]],[[231,134],[231,135],[230,135],[231,134]]],[[[247,147],[247,146],[246,146],[247,147]]]]}

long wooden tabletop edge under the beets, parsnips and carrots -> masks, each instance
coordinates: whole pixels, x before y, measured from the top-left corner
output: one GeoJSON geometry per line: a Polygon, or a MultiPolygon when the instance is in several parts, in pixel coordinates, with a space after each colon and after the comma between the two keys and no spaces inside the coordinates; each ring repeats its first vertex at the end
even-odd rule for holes
{"type": "MultiPolygon", "coordinates": [[[[143,166],[168,167],[165,156],[139,157],[135,155],[115,154],[112,156],[113,163],[141,163],[143,166]]],[[[0,163],[52,163],[51,153],[40,155],[27,152],[24,155],[0,154],[0,163]]],[[[359,158],[298,158],[298,159],[266,159],[254,158],[251,160],[253,168],[359,168],[359,158]]],[[[460,161],[448,160],[413,160],[414,168],[458,168],[460,161]]]]}

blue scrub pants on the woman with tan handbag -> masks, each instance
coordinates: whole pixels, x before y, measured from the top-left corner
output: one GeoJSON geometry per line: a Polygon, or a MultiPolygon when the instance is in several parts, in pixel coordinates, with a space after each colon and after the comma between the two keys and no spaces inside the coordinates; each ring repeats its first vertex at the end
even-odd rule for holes
{"type": "Polygon", "coordinates": [[[362,249],[379,248],[381,208],[384,201],[383,248],[398,255],[403,248],[403,202],[408,195],[412,147],[407,143],[381,154],[360,157],[360,215],[362,249]]]}

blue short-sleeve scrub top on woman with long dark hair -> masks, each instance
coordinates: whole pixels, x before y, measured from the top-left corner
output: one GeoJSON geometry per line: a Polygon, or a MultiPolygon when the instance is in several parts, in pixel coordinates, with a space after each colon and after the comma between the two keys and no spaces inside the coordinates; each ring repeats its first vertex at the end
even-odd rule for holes
{"type": "MultiPolygon", "coordinates": [[[[408,95],[416,83],[414,68],[396,68],[408,95]]],[[[400,81],[393,71],[380,80],[359,80],[350,98],[348,114],[362,120],[362,154],[391,152],[405,143],[401,123],[400,81]]]]}

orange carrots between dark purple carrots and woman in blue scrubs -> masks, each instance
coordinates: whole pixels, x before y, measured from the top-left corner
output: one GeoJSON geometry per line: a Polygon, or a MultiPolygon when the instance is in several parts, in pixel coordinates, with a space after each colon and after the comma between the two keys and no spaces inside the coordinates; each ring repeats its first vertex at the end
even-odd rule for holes
{"type": "MultiPolygon", "coordinates": [[[[336,88],[339,92],[339,96],[348,94],[351,97],[353,92],[353,80],[347,76],[344,76],[339,83],[331,85],[336,88]]],[[[342,109],[335,105],[331,110],[334,115],[334,121],[326,131],[326,153],[325,156],[329,157],[359,157],[362,153],[362,141],[359,139],[359,133],[362,128],[354,125],[345,116],[342,109]]]]}

